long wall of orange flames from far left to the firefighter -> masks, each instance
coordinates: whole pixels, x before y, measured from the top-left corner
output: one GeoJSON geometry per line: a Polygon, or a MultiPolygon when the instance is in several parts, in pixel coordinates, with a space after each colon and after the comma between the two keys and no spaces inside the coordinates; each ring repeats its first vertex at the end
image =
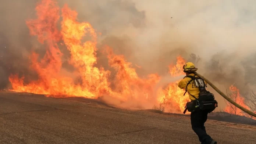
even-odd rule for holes
{"type": "MultiPolygon", "coordinates": [[[[77,12],[67,5],[62,9],[55,0],[42,0],[36,7],[37,19],[30,19],[26,24],[32,36],[46,48],[43,58],[32,52],[31,70],[38,73],[37,80],[25,83],[25,76],[10,75],[12,91],[44,94],[53,97],[101,97],[111,96],[122,102],[133,101],[140,104],[163,104],[167,111],[182,112],[188,101],[183,96],[184,90],[177,87],[178,82],[170,83],[167,87],[156,90],[156,84],[161,77],[150,74],[140,78],[123,55],[116,55],[106,46],[105,53],[109,66],[116,73],[114,79],[109,79],[110,71],[95,66],[97,62],[97,33],[88,22],[77,22],[77,12]],[[58,21],[62,17],[61,30],[58,21]],[[70,51],[69,64],[74,67],[72,76],[62,67],[63,53],[59,46],[70,51]]],[[[182,66],[185,60],[177,57],[176,65],[170,65],[171,76],[183,75],[182,66]]],[[[152,105],[151,105],[152,106],[152,105]]]]}

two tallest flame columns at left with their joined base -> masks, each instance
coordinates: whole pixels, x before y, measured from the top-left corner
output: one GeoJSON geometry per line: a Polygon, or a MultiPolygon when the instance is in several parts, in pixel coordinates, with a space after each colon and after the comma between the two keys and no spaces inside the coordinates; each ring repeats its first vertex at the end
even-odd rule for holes
{"type": "Polygon", "coordinates": [[[37,35],[38,41],[46,44],[46,54],[40,62],[38,54],[31,55],[31,68],[38,73],[38,80],[25,85],[24,76],[21,79],[18,79],[18,75],[9,77],[13,91],[79,97],[98,97],[100,93],[109,93],[107,78],[110,72],[94,66],[97,50],[95,30],[89,23],[75,21],[77,13],[65,5],[61,10],[63,21],[62,29],[59,31],[57,22],[60,19],[60,8],[56,4],[53,0],[42,0],[36,7],[38,19],[26,22],[31,35],[37,35]],[[89,33],[91,40],[82,43],[81,39],[86,33],[89,33]],[[72,78],[61,75],[63,54],[58,48],[61,39],[70,51],[70,63],[77,68],[82,79],[81,84],[76,84],[72,78]]]}

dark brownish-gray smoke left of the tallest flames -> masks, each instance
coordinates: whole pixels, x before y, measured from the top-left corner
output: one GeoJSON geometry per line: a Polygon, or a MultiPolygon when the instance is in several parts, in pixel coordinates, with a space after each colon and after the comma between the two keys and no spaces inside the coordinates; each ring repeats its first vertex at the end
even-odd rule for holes
{"type": "Polygon", "coordinates": [[[1,1],[0,5],[0,89],[8,87],[10,73],[29,72],[31,44],[25,20],[32,14],[35,1],[1,1]]]}

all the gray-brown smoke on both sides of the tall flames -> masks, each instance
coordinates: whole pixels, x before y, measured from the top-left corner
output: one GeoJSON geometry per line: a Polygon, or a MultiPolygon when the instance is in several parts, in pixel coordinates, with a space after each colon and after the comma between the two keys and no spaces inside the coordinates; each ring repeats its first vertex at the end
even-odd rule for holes
{"type": "MultiPolygon", "coordinates": [[[[25,20],[35,17],[38,0],[1,3],[0,11],[0,89],[8,87],[11,73],[35,75],[29,71],[31,50],[45,50],[29,36],[25,20]]],[[[88,21],[102,33],[99,36],[97,66],[109,68],[104,45],[137,68],[140,76],[166,75],[167,66],[181,55],[195,62],[202,73],[221,90],[237,84],[252,88],[256,72],[253,0],[58,0],[78,12],[79,21],[88,21]],[[191,55],[193,53],[194,55],[191,55]],[[253,77],[253,78],[252,78],[253,77]]],[[[62,51],[63,52],[63,51],[62,51]]],[[[68,52],[63,52],[67,56],[68,52]]],[[[63,64],[67,69],[66,61],[63,64]]]]}

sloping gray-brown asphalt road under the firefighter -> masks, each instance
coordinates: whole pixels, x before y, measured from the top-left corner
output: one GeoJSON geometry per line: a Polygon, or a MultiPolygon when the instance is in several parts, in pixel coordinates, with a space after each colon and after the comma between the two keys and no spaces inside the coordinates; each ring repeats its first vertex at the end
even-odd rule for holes
{"type": "MultiPolygon", "coordinates": [[[[256,126],[208,120],[218,144],[255,144],[256,126]]],[[[111,108],[83,98],[0,92],[1,144],[199,144],[189,117],[111,108]]]]}

